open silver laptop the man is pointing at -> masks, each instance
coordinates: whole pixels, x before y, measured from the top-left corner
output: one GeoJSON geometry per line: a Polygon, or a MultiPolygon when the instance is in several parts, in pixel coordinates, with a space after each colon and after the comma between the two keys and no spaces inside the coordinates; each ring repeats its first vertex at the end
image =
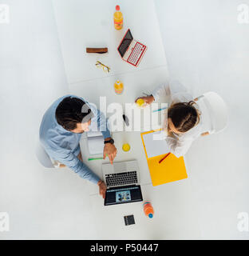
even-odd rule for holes
{"type": "Polygon", "coordinates": [[[136,160],[103,163],[102,172],[107,186],[105,206],[143,201],[136,160]]]}

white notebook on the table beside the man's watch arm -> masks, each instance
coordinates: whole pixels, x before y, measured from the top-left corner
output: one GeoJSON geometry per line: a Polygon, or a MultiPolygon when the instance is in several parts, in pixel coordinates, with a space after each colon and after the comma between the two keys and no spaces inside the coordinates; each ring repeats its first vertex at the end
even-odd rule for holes
{"type": "Polygon", "coordinates": [[[101,132],[88,132],[87,142],[89,147],[89,154],[103,154],[104,137],[101,132]]]}

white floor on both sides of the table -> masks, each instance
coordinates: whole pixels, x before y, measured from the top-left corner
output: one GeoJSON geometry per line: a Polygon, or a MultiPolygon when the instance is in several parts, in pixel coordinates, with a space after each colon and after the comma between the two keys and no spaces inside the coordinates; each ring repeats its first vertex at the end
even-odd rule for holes
{"type": "MultiPolygon", "coordinates": [[[[227,130],[187,155],[200,238],[249,238],[236,227],[237,214],[249,213],[249,24],[237,23],[237,6],[248,1],[155,2],[172,78],[195,95],[216,91],[229,109],[227,130]]],[[[45,172],[34,155],[42,114],[68,91],[51,2],[1,3],[10,24],[0,24],[0,211],[10,214],[10,232],[0,239],[94,238],[85,181],[45,172]]]]}

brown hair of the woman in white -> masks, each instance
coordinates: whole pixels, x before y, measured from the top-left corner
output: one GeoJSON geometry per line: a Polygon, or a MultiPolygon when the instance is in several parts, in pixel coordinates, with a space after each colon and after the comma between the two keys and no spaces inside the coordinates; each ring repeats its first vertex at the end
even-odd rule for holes
{"type": "Polygon", "coordinates": [[[175,103],[168,109],[168,118],[171,118],[176,130],[184,133],[192,129],[200,121],[198,110],[193,104],[196,102],[175,103]]]}

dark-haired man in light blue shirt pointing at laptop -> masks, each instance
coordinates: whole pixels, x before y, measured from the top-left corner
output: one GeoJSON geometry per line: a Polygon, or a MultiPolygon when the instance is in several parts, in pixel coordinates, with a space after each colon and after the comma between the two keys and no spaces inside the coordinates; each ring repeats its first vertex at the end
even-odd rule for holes
{"type": "Polygon", "coordinates": [[[106,125],[105,115],[83,98],[65,95],[53,102],[45,112],[40,126],[40,141],[49,157],[68,166],[81,178],[99,186],[105,198],[105,182],[82,162],[80,139],[87,131],[100,130],[105,139],[103,157],[113,163],[117,149],[106,125]]]}

